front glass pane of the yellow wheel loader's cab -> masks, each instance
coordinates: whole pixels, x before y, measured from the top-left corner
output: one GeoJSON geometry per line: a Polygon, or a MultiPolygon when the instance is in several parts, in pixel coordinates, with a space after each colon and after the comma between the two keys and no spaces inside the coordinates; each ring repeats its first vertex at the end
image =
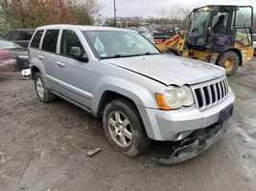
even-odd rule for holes
{"type": "Polygon", "coordinates": [[[191,32],[204,34],[208,26],[210,11],[195,11],[191,16],[191,32]]]}

